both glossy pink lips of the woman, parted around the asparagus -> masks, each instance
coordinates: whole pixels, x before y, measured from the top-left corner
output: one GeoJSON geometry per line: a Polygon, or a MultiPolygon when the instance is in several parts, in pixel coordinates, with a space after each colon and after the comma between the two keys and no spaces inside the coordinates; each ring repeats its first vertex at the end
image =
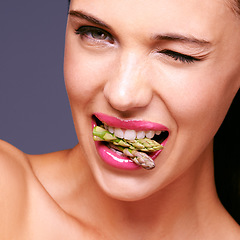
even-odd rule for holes
{"type": "MultiPolygon", "coordinates": [[[[132,129],[135,131],[168,131],[168,128],[158,124],[158,123],[152,123],[147,121],[141,121],[141,120],[120,120],[115,117],[108,116],[103,113],[96,113],[94,114],[101,122],[106,123],[109,126],[112,127],[118,127],[122,129],[132,129]]],[[[96,126],[96,122],[93,120],[92,122],[92,128],[96,126]]],[[[168,138],[167,138],[168,139],[168,138]]],[[[167,142],[167,139],[162,143],[164,146],[167,142]]],[[[138,165],[136,165],[132,160],[130,160],[128,157],[120,156],[111,149],[109,149],[103,142],[95,142],[96,149],[98,151],[98,154],[100,155],[101,159],[109,164],[112,167],[118,168],[118,169],[124,169],[124,170],[137,170],[141,169],[138,165]]],[[[150,157],[155,160],[156,157],[161,153],[162,150],[156,151],[150,155],[150,157]]]]}

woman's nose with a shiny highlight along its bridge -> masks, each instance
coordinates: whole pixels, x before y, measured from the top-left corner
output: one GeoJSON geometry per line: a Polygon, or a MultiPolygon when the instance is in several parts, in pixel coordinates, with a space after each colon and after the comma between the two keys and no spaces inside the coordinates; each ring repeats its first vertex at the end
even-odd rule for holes
{"type": "Polygon", "coordinates": [[[113,73],[106,80],[103,91],[109,104],[118,111],[146,107],[152,99],[146,61],[137,54],[128,53],[113,65],[113,73]]]}

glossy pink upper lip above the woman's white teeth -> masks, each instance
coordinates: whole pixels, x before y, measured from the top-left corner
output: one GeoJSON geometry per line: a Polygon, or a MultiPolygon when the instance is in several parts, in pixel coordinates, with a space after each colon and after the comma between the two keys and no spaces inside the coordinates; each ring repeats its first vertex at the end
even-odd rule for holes
{"type": "Polygon", "coordinates": [[[143,120],[122,120],[113,116],[109,116],[104,113],[95,113],[94,116],[100,120],[102,123],[108,126],[121,128],[121,129],[131,129],[135,131],[168,131],[169,129],[159,123],[143,121],[143,120]]]}

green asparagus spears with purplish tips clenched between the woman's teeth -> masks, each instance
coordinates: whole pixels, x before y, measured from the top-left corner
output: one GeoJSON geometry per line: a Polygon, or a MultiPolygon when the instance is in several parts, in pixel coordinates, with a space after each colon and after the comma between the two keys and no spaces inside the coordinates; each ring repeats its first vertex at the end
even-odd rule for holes
{"type": "Polygon", "coordinates": [[[133,162],[145,169],[153,169],[155,167],[154,161],[146,152],[155,152],[163,149],[161,144],[152,139],[121,139],[100,126],[94,127],[93,139],[95,141],[109,142],[110,147],[121,151],[124,155],[130,157],[133,162]]]}

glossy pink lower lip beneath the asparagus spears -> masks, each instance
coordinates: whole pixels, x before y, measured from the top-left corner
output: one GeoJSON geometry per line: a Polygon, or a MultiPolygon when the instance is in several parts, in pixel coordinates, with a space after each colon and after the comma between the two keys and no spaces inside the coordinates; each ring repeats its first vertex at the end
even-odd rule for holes
{"type": "MultiPolygon", "coordinates": [[[[96,126],[96,123],[93,122],[93,128],[96,126]]],[[[162,143],[165,145],[166,140],[162,143]]],[[[124,170],[138,170],[141,169],[140,166],[135,164],[131,159],[128,157],[120,156],[116,152],[112,151],[108,148],[103,142],[95,141],[95,146],[98,151],[99,156],[102,160],[107,163],[108,165],[124,170]]],[[[151,153],[149,156],[155,160],[156,157],[161,153],[162,150],[156,151],[151,153]]]]}

